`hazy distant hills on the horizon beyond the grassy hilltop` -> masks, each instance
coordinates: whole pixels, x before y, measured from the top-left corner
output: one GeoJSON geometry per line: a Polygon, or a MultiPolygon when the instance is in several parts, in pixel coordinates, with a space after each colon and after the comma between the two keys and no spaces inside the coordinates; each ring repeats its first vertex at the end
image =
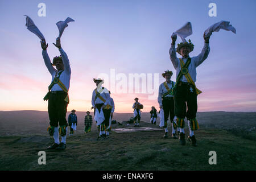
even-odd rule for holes
{"type": "MultiPolygon", "coordinates": [[[[70,112],[67,113],[67,117],[70,112]]],[[[77,111],[78,132],[84,129],[84,117],[86,112],[77,111]]],[[[91,113],[93,115],[93,113],[91,113]]],[[[114,113],[114,118],[118,122],[129,120],[133,113],[114,113]]],[[[142,121],[150,122],[150,113],[142,112],[142,121]]],[[[197,120],[200,127],[220,128],[220,129],[243,129],[255,131],[256,112],[199,112],[197,120]]],[[[159,125],[159,118],[156,121],[159,125]]],[[[2,135],[29,135],[46,134],[49,125],[47,111],[0,111],[0,136],[2,135]]],[[[187,127],[187,124],[186,124],[187,127]]],[[[93,130],[96,130],[93,122],[93,130]]]]}

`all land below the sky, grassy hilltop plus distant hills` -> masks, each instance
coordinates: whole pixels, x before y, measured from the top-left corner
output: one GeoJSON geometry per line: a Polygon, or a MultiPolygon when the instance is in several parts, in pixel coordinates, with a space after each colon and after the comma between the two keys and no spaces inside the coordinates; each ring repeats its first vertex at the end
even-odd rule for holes
{"type": "MultiPolygon", "coordinates": [[[[69,114],[69,113],[68,113],[69,114]]],[[[68,115],[67,114],[67,115],[68,115]]],[[[163,139],[164,130],[115,133],[96,140],[95,123],[84,134],[85,112],[74,136],[67,137],[65,151],[47,151],[53,143],[47,134],[48,114],[44,111],[0,111],[0,170],[255,170],[256,113],[203,112],[197,114],[197,147],[180,146],[178,140],[163,139]],[[46,151],[46,165],[38,164],[38,152],[46,151]],[[210,165],[209,151],[216,151],[217,164],[210,165]]],[[[133,114],[114,113],[126,127],[133,114]]],[[[142,113],[141,127],[159,128],[142,113]]],[[[170,123],[168,123],[170,125],[170,123]]],[[[171,131],[170,126],[168,128],[171,131]]],[[[185,133],[188,127],[185,123],[185,133]]]]}

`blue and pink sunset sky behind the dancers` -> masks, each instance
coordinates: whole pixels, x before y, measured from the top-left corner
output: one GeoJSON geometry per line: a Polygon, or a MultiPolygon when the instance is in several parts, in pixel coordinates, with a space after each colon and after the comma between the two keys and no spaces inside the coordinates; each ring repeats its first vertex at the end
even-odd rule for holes
{"type": "Polygon", "coordinates": [[[210,37],[209,56],[197,67],[196,86],[203,91],[197,97],[198,111],[256,111],[255,6],[254,0],[1,0],[0,110],[47,110],[43,97],[51,75],[44,65],[39,38],[25,26],[26,14],[46,38],[51,60],[60,55],[52,44],[59,35],[56,23],[68,16],[75,20],[61,37],[72,70],[68,111],[90,110],[96,88],[93,78],[104,75],[109,77],[104,86],[112,92],[115,112],[133,112],[135,97],[144,105],[144,112],[152,105],[159,110],[150,87],[158,92],[164,81],[161,74],[167,69],[174,72],[171,80],[175,81],[168,53],[172,32],[191,22],[193,34],[187,39],[195,44],[190,56],[196,56],[204,45],[204,31],[220,20],[229,21],[237,34],[220,30],[210,37]],[[38,16],[41,2],[46,4],[45,17],[38,16]],[[208,15],[209,3],[216,3],[216,17],[208,15]],[[129,92],[129,74],[135,73],[147,76],[146,93],[129,92]],[[127,89],[119,87],[120,79],[127,82],[127,89]]]}

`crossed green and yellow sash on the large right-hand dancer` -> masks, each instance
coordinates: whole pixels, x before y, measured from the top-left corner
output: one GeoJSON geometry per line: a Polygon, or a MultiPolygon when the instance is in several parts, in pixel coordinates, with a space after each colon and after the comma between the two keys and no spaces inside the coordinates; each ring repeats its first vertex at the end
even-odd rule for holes
{"type": "MultiPolygon", "coordinates": [[[[189,84],[194,85],[195,88],[196,88],[195,82],[193,81],[193,79],[191,78],[191,76],[188,73],[188,66],[191,63],[191,58],[189,57],[186,63],[184,63],[184,61],[182,59],[180,59],[180,58],[179,58],[179,60],[180,60],[180,67],[181,67],[181,69],[180,69],[180,72],[179,72],[179,74],[177,76],[176,83],[175,83],[174,87],[176,87],[176,85],[180,81],[180,78],[184,75],[185,78],[187,79],[187,81],[189,82],[189,84]]],[[[201,90],[196,88],[196,94],[198,95],[200,93],[202,93],[201,90]]]]}

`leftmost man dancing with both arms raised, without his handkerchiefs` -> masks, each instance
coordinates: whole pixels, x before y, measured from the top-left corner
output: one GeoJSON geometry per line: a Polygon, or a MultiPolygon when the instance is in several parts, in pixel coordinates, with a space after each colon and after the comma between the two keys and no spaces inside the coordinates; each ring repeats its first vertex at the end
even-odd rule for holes
{"type": "Polygon", "coordinates": [[[59,38],[56,39],[56,44],[54,45],[59,49],[61,56],[54,57],[53,63],[51,64],[46,50],[48,44],[46,44],[45,40],[41,41],[44,63],[49,73],[52,75],[52,82],[48,87],[49,92],[44,97],[44,100],[48,100],[48,114],[50,120],[48,131],[49,135],[53,136],[55,141],[48,149],[64,150],[67,146],[66,137],[68,123],[66,113],[69,103],[68,89],[71,78],[71,68],[68,56],[61,48],[59,38]],[[56,69],[53,68],[53,66],[56,66],[56,69]],[[59,131],[58,124],[60,125],[59,131]],[[61,135],[61,143],[59,134],[61,135]]]}

